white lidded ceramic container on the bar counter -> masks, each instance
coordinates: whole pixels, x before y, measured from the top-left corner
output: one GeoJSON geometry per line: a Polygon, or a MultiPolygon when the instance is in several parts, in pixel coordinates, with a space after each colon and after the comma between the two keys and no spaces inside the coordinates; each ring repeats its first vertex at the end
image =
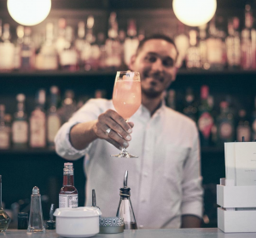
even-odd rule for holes
{"type": "Polygon", "coordinates": [[[102,212],[97,207],[63,207],[54,212],[56,233],[64,237],[90,237],[100,231],[99,217],[102,212]]]}

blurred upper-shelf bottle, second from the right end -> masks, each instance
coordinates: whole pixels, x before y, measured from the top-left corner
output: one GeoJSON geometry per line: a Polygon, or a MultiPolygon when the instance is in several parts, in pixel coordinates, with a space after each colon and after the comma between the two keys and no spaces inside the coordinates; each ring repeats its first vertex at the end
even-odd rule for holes
{"type": "Polygon", "coordinates": [[[229,68],[239,68],[241,64],[241,45],[240,35],[236,29],[239,27],[239,19],[232,18],[229,20],[229,36],[226,38],[227,60],[229,68]]]}

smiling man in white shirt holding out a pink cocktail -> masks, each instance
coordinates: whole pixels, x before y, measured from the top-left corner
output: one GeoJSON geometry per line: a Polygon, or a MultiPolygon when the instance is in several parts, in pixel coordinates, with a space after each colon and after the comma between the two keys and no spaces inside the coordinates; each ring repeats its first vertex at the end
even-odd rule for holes
{"type": "Polygon", "coordinates": [[[141,76],[142,105],[126,123],[112,100],[90,99],[55,137],[58,155],[84,156],[86,206],[91,190],[104,217],[114,216],[119,188],[129,171],[131,203],[138,228],[200,227],[202,188],[200,147],[195,122],[166,107],[163,92],[176,78],[177,48],[171,38],[145,38],[131,57],[141,76]],[[113,158],[127,148],[138,158],[113,158]]]}

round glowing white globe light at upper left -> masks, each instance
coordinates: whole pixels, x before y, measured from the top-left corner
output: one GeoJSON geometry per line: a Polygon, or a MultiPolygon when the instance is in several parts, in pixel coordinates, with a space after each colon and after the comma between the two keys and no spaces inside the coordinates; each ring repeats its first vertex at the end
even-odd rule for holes
{"type": "Polygon", "coordinates": [[[24,26],[34,26],[49,14],[51,0],[8,0],[11,17],[24,26]]]}

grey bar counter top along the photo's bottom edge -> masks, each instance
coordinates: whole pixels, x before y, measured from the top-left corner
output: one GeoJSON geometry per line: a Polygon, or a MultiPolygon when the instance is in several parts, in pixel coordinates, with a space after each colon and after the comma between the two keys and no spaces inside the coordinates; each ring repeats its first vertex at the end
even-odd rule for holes
{"type": "MultiPolygon", "coordinates": [[[[256,233],[223,233],[218,228],[201,229],[137,229],[125,230],[119,234],[97,234],[95,238],[254,238],[256,233]]],[[[61,237],[55,231],[47,230],[45,233],[27,234],[26,230],[9,229],[5,233],[0,233],[4,238],[56,238],[61,237]]]]}

